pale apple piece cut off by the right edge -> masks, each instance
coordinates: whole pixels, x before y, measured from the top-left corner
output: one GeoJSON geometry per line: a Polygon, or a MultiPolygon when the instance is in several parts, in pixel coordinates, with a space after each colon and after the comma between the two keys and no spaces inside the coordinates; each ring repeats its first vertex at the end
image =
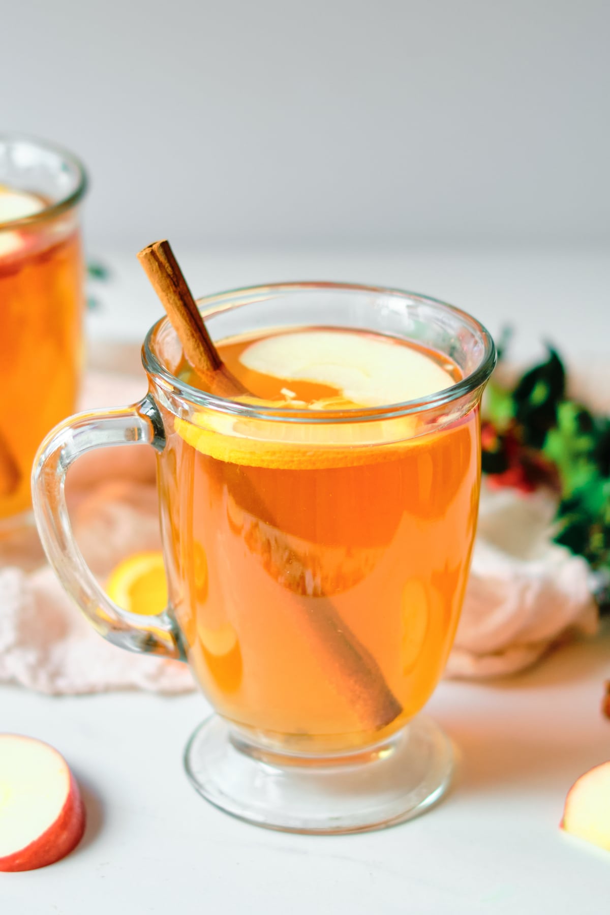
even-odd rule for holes
{"type": "Polygon", "coordinates": [[[585,772],[568,791],[562,829],[610,851],[610,762],[585,772]]]}

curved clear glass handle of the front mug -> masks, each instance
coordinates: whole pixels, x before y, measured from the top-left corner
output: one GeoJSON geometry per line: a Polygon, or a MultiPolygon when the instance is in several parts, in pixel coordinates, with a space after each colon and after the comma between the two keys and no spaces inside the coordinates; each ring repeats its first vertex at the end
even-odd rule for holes
{"type": "Polygon", "coordinates": [[[32,471],[32,499],[40,540],[63,587],[95,629],[114,645],[185,660],[176,622],[166,609],[156,616],[129,613],[104,593],[74,540],[65,496],[68,469],[95,448],[145,443],[165,446],[161,416],[150,395],[138,404],[70,417],[44,440],[32,471]]]}

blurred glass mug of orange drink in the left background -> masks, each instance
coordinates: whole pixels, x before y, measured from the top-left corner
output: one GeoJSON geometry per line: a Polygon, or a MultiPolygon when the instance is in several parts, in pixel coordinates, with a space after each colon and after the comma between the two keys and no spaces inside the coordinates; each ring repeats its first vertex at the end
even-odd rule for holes
{"type": "MultiPolygon", "coordinates": [[[[0,522],[30,507],[37,447],[76,408],[85,186],[83,167],[70,153],[0,135],[0,522]],[[29,215],[3,221],[3,199],[11,190],[33,195],[33,207],[26,209],[29,215]]],[[[8,211],[22,212],[23,202],[13,199],[8,211]]]]}

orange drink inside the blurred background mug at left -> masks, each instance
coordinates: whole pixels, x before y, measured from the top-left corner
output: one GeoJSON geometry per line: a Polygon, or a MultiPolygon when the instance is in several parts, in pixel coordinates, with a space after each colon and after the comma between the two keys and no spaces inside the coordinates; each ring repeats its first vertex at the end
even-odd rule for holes
{"type": "MultiPolygon", "coordinates": [[[[74,215],[17,230],[2,219],[3,197],[33,195],[0,188],[0,518],[29,507],[37,447],[75,408],[82,311],[74,215]]],[[[39,200],[38,209],[45,205],[39,200]]]]}

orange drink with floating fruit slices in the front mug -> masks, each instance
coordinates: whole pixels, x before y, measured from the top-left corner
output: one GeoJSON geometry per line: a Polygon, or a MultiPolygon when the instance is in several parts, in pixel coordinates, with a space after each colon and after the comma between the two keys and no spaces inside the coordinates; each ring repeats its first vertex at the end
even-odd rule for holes
{"type": "Polygon", "coordinates": [[[162,529],[188,661],[251,734],[312,753],[370,745],[422,708],[451,647],[476,527],[477,410],[308,424],[459,380],[445,357],[373,333],[280,330],[219,352],[247,403],[300,421],[164,414],[162,529]]]}

